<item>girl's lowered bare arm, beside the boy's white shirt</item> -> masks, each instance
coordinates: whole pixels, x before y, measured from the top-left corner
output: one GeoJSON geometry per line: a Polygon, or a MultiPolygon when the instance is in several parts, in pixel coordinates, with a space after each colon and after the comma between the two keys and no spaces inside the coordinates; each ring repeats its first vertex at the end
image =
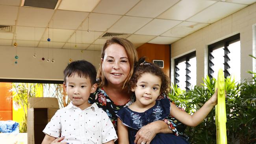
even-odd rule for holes
{"type": "Polygon", "coordinates": [[[117,118],[117,136],[119,144],[129,144],[128,127],[122,124],[120,118],[117,118]]]}

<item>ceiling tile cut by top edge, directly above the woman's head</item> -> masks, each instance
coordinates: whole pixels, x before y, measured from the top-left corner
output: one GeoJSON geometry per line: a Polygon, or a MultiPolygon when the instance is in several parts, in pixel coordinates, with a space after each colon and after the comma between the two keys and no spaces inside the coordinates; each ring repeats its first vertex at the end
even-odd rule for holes
{"type": "Polygon", "coordinates": [[[93,9],[93,12],[124,15],[129,9],[137,4],[137,2],[139,2],[139,0],[101,0],[95,9],[93,9]]]}

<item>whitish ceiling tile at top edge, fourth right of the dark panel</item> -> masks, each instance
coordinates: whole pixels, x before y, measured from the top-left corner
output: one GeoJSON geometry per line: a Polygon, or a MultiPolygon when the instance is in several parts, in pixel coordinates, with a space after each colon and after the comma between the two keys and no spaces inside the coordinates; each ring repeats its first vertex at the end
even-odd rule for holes
{"type": "Polygon", "coordinates": [[[214,3],[215,1],[211,0],[181,0],[158,18],[186,20],[214,3]]]}

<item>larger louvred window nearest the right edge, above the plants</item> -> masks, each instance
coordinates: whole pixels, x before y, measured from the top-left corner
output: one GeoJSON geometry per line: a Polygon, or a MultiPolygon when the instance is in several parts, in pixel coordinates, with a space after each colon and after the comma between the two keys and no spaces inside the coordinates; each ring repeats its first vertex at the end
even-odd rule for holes
{"type": "Polygon", "coordinates": [[[240,34],[208,46],[208,75],[217,78],[219,68],[224,71],[224,77],[232,76],[240,81],[240,34]]]}

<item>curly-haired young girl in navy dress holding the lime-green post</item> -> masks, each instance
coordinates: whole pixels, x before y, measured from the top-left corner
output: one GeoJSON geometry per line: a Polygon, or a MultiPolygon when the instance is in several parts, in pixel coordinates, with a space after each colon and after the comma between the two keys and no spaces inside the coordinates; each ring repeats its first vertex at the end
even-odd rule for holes
{"type": "MultiPolygon", "coordinates": [[[[217,91],[192,116],[178,109],[169,99],[158,100],[161,94],[167,94],[169,78],[159,66],[139,59],[135,72],[129,82],[135,93],[136,101],[117,113],[119,144],[134,144],[139,129],[150,122],[163,120],[169,114],[187,126],[197,126],[217,104],[217,91]]],[[[183,137],[173,134],[158,133],[151,142],[138,141],[137,144],[189,144],[183,137]]]]}

